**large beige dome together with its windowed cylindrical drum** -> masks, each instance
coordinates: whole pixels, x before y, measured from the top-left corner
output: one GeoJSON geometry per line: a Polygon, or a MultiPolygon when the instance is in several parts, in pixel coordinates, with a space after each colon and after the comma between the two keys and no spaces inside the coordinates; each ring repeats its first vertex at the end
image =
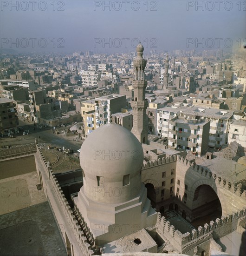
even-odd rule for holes
{"type": "Polygon", "coordinates": [[[142,164],[142,145],[135,135],[118,124],[103,125],[85,139],[80,149],[84,193],[93,201],[128,201],[140,193],[142,164]],[[120,190],[120,196],[95,193],[104,189],[120,190]],[[123,195],[123,189],[130,193],[123,195]]]}

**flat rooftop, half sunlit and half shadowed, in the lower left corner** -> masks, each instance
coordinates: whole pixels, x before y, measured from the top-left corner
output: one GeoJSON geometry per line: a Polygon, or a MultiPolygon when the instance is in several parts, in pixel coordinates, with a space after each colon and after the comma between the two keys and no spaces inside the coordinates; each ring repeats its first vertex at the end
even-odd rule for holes
{"type": "Polygon", "coordinates": [[[57,226],[36,171],[0,180],[0,255],[65,256],[57,226]]]}

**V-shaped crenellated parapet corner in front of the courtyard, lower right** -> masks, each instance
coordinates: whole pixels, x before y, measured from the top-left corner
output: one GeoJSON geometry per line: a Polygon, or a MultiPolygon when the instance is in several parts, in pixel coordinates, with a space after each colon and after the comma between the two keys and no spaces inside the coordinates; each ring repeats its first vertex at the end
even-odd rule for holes
{"type": "MultiPolygon", "coordinates": [[[[199,245],[212,236],[214,239],[226,236],[235,231],[242,220],[246,219],[246,211],[241,210],[226,217],[217,218],[216,221],[211,221],[209,224],[204,224],[203,227],[193,229],[192,232],[182,234],[175,229],[173,225],[161,213],[157,213],[157,232],[179,250],[180,253],[185,253],[192,247],[199,245]]],[[[243,230],[243,229],[242,229],[243,230]]]]}

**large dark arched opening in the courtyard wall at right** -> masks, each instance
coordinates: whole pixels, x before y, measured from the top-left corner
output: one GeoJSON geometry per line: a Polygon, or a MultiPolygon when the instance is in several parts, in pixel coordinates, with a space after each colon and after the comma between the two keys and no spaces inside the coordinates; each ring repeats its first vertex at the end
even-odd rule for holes
{"type": "Polygon", "coordinates": [[[218,195],[209,185],[200,185],[194,191],[191,222],[194,227],[221,218],[222,208],[218,195]]]}

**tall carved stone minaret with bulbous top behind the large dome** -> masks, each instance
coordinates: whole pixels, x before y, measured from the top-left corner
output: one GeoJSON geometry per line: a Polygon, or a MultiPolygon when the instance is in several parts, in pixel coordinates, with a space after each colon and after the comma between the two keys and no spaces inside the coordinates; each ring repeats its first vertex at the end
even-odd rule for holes
{"type": "Polygon", "coordinates": [[[147,81],[144,80],[144,68],[147,61],[142,58],[143,46],[141,42],[139,42],[136,47],[136,53],[136,59],[133,61],[136,77],[132,81],[134,99],[131,101],[131,107],[133,109],[133,126],[131,132],[136,136],[140,143],[147,143],[149,119],[146,115],[148,100],[145,99],[147,81]]]}

